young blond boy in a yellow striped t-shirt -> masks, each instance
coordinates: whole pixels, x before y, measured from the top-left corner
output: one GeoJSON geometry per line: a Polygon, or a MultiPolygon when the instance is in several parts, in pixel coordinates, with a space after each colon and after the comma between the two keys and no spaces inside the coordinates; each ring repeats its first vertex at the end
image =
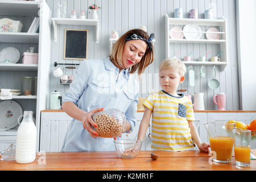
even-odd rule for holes
{"type": "Polygon", "coordinates": [[[152,114],[152,149],[195,150],[195,142],[200,151],[209,152],[209,144],[201,143],[193,123],[195,117],[191,101],[183,94],[176,93],[177,87],[184,81],[185,72],[186,67],[181,60],[163,60],[159,66],[159,83],[163,90],[149,94],[143,102],[145,111],[138,140],[144,140],[152,114]]]}

